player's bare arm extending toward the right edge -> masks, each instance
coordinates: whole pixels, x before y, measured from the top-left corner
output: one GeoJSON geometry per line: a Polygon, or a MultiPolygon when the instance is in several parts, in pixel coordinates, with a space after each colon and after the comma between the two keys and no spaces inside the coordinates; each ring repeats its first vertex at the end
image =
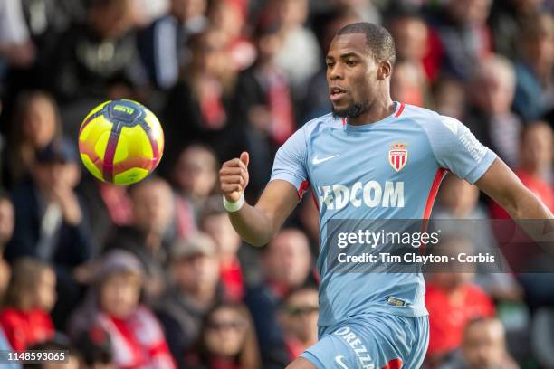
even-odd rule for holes
{"type": "Polygon", "coordinates": [[[498,157],[475,185],[501,205],[512,219],[554,219],[549,208],[498,157]]]}

